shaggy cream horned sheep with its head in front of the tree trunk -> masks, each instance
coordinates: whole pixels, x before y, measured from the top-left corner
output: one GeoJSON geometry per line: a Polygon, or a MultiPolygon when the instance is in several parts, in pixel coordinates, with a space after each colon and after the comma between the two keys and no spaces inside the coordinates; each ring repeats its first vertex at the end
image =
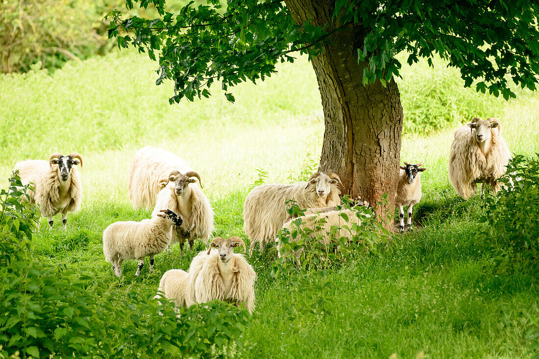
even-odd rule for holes
{"type": "Polygon", "coordinates": [[[244,231],[251,240],[250,252],[256,243],[260,251],[266,242],[275,241],[287,218],[286,201],[294,200],[300,208],[321,208],[340,205],[341,179],[333,172],[315,172],[308,181],[296,184],[257,186],[247,195],[243,209],[244,231]]]}

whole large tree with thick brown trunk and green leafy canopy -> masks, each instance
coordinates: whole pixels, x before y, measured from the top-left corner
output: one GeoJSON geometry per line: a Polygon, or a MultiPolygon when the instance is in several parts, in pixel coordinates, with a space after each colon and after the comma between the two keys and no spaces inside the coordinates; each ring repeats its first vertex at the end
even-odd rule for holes
{"type": "MultiPolygon", "coordinates": [[[[208,97],[264,80],[278,61],[308,53],[320,87],[326,131],[321,171],[335,171],[344,193],[370,203],[388,193],[395,207],[403,111],[394,80],[407,52],[432,65],[438,54],[460,69],[465,86],[515,97],[508,79],[535,90],[539,74],[539,4],[487,0],[218,0],[192,2],[178,13],[165,0],[127,0],[160,17],[123,18],[112,11],[109,37],[148,52],[160,67],[157,85],[175,83],[170,103],[208,97]]],[[[472,116],[473,114],[470,114],[472,116]]],[[[379,209],[379,213],[383,210],[379,209]]]]}

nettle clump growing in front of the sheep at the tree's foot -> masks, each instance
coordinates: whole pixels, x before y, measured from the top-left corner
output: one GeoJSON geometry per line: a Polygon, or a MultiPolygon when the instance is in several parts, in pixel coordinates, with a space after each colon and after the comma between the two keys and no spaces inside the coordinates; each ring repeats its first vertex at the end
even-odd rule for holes
{"type": "Polygon", "coordinates": [[[337,206],[337,210],[346,209],[356,218],[342,212],[338,223],[327,228],[328,221],[321,213],[309,220],[307,226],[302,219],[306,210],[294,201],[287,201],[287,212],[296,219],[292,221],[291,230],[283,228],[278,236],[280,258],[274,263],[274,269],[287,273],[298,265],[303,270],[327,270],[358,256],[377,254],[391,237],[384,228],[385,221],[370,207],[356,206],[348,196],[343,198],[343,205],[337,206]]]}

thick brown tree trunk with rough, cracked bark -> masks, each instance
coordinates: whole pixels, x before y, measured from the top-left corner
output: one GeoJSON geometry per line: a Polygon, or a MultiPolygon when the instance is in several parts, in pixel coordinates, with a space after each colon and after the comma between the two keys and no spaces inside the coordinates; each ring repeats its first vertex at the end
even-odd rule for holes
{"type": "Polygon", "coordinates": [[[323,52],[312,59],[324,110],[326,130],[320,158],[320,171],[334,171],[342,179],[344,194],[376,204],[388,193],[388,207],[395,208],[400,134],[403,110],[397,84],[382,86],[376,81],[363,86],[365,62],[357,62],[357,48],[365,34],[361,26],[332,24],[331,2],[285,0],[296,24],[311,19],[331,35],[323,52]]]}

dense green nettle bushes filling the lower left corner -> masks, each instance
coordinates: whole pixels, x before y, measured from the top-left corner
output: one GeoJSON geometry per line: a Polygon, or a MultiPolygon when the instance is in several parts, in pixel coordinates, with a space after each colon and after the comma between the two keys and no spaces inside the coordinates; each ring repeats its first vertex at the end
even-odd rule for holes
{"type": "Polygon", "coordinates": [[[122,293],[93,275],[34,261],[39,216],[24,200],[28,189],[14,174],[0,195],[0,358],[241,356],[245,309],[210,302],[177,318],[153,293],[122,293]]]}

